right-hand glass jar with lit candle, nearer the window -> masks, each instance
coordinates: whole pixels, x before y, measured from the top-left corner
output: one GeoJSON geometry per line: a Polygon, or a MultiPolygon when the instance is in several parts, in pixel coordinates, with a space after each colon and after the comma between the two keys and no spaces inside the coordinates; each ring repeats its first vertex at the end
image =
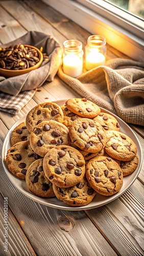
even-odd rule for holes
{"type": "Polygon", "coordinates": [[[104,66],[106,61],[106,39],[101,35],[90,35],[85,47],[85,67],[87,70],[104,66]]]}

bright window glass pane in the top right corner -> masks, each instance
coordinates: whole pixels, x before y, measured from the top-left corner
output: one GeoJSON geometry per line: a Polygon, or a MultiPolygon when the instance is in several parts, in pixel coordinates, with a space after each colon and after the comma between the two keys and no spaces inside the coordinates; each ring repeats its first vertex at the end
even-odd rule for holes
{"type": "MultiPolygon", "coordinates": [[[[95,0],[91,1],[96,3],[95,0]]],[[[112,5],[120,7],[133,14],[134,16],[144,19],[144,0],[103,0],[103,2],[111,3],[112,5]]]]}

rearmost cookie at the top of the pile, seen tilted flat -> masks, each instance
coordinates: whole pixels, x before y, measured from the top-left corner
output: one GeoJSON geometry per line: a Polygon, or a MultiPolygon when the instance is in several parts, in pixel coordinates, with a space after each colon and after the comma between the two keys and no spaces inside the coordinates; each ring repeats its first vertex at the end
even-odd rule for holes
{"type": "Polygon", "coordinates": [[[65,104],[68,110],[82,117],[95,117],[101,112],[98,105],[86,98],[68,99],[65,104]]]}

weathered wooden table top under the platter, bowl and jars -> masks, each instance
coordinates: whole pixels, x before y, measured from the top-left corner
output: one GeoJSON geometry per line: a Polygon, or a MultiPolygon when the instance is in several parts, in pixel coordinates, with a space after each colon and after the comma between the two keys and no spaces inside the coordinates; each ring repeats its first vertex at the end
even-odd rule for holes
{"type": "MultiPolygon", "coordinates": [[[[90,35],[87,31],[41,1],[28,3],[0,2],[2,44],[35,30],[54,35],[61,45],[71,38],[86,45],[90,35]]],[[[129,58],[107,45],[107,60],[117,57],[129,58]]],[[[74,97],[80,95],[56,76],[53,82],[46,81],[17,115],[0,112],[1,151],[10,127],[35,105],[74,97]]],[[[132,127],[143,147],[142,127],[132,127]]],[[[0,164],[0,255],[143,255],[144,164],[125,194],[104,206],[84,211],[59,210],[34,202],[12,185],[2,161],[0,164]],[[4,251],[5,197],[8,197],[8,252],[4,251]]]]}

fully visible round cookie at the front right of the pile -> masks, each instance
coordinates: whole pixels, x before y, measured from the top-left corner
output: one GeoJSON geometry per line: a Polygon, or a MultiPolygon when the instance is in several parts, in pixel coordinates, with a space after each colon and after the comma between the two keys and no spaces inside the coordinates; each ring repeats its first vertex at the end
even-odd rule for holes
{"type": "Polygon", "coordinates": [[[95,157],[86,165],[86,178],[91,187],[103,196],[116,194],[123,185],[121,167],[110,157],[95,157]]]}

